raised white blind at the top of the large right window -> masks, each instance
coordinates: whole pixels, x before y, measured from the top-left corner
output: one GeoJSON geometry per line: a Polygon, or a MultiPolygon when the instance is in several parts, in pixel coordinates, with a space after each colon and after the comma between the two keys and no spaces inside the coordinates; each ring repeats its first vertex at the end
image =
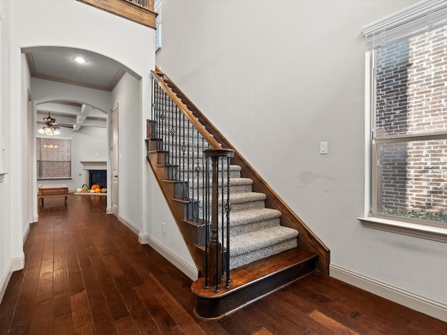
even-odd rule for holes
{"type": "Polygon", "coordinates": [[[447,1],[421,1],[363,28],[367,51],[447,24],[447,1]]]}

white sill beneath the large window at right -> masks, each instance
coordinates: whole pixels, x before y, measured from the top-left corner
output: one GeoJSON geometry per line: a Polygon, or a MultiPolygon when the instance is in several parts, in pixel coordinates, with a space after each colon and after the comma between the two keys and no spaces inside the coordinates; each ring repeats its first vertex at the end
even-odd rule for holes
{"type": "Polygon", "coordinates": [[[362,223],[363,227],[447,243],[447,226],[409,223],[388,218],[368,217],[357,219],[362,223]]]}

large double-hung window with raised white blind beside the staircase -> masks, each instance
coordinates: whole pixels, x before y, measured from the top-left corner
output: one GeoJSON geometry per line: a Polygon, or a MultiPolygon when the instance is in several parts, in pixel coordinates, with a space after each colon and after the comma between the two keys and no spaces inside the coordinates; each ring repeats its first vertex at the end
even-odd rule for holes
{"type": "Polygon", "coordinates": [[[447,228],[446,14],[427,1],[363,31],[373,218],[447,228]]]}

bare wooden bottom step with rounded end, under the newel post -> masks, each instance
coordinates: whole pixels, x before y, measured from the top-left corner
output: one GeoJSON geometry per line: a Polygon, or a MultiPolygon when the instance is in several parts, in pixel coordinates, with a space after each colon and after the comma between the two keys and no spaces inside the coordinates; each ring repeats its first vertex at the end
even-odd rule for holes
{"type": "Polygon", "coordinates": [[[269,258],[238,267],[230,271],[230,288],[225,278],[219,285],[205,288],[205,278],[191,285],[196,295],[194,313],[205,320],[219,320],[251,302],[257,301],[298,279],[316,271],[318,255],[294,248],[269,258]]]}

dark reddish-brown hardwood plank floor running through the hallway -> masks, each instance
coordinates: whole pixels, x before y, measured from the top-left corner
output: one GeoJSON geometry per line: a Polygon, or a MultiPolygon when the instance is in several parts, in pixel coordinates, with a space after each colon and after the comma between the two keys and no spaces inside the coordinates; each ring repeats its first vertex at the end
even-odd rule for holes
{"type": "Polygon", "coordinates": [[[323,274],[218,321],[193,315],[191,280],[138,243],[105,197],[45,200],[0,304],[0,334],[447,334],[447,323],[323,274]]]}

